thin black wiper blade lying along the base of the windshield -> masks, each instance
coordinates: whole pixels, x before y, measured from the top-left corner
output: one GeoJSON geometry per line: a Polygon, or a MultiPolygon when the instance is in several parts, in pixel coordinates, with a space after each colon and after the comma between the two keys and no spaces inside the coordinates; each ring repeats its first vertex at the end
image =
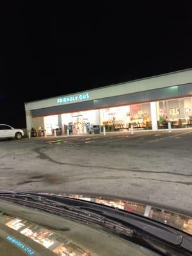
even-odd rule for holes
{"type": "Polygon", "coordinates": [[[132,236],[132,230],[124,227],[117,221],[108,220],[108,218],[90,212],[88,209],[79,206],[67,205],[54,200],[49,200],[40,195],[29,195],[28,193],[1,193],[0,198],[10,202],[16,202],[28,207],[35,207],[50,213],[68,216],[74,220],[81,220],[84,223],[92,223],[107,228],[117,234],[132,236]]]}

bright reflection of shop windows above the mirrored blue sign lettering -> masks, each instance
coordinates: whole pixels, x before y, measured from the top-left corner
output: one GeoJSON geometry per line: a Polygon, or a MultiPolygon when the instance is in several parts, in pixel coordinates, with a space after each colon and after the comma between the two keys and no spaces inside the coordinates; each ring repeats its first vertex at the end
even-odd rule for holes
{"type": "MultiPolygon", "coordinates": [[[[52,253],[59,256],[91,256],[92,253],[84,250],[79,245],[68,240],[65,236],[49,230],[47,228],[41,227],[39,225],[33,224],[29,221],[22,220],[21,218],[13,218],[8,216],[6,218],[5,225],[17,230],[20,234],[29,237],[38,244],[41,244],[52,253]]],[[[94,253],[95,256],[97,256],[94,253]]]]}

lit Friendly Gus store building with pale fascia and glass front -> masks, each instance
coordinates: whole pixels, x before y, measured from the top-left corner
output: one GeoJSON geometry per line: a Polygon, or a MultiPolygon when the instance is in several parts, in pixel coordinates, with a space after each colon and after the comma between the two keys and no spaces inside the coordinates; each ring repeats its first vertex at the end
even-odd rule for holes
{"type": "Polygon", "coordinates": [[[192,127],[192,69],[86,92],[27,102],[26,122],[31,128],[60,129],[61,134],[87,134],[134,129],[192,127]]]}

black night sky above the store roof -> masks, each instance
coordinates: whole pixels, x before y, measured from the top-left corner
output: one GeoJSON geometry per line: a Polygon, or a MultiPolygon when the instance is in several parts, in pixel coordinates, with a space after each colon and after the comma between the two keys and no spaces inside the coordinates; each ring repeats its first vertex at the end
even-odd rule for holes
{"type": "Polygon", "coordinates": [[[0,124],[26,127],[30,100],[192,67],[189,5],[4,2],[0,124]]]}

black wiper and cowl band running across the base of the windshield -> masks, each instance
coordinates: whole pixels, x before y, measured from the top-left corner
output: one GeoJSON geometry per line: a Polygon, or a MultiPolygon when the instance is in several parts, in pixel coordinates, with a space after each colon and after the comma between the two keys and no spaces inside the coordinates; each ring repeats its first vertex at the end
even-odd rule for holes
{"type": "Polygon", "coordinates": [[[191,255],[192,253],[192,239],[189,235],[129,212],[74,198],[42,193],[2,191],[0,198],[67,216],[72,220],[102,226],[116,234],[129,237],[132,241],[142,241],[146,246],[164,255],[191,255]],[[177,248],[176,254],[175,248],[177,248]]]}

